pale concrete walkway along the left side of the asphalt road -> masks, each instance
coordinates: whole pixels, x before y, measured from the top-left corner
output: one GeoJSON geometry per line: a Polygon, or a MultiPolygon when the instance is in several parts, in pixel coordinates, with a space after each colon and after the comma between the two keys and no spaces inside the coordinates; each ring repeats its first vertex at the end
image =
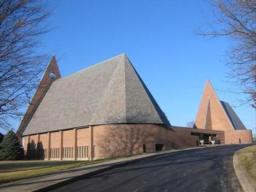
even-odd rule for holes
{"type": "MultiPolygon", "coordinates": [[[[205,147],[200,147],[200,148],[205,148],[205,147]]],[[[193,149],[200,149],[200,148],[187,148],[183,150],[193,150],[193,149]]],[[[151,154],[141,154],[137,156],[109,160],[109,161],[101,162],[98,164],[90,164],[87,166],[80,166],[77,168],[61,170],[59,172],[46,174],[40,177],[33,177],[30,179],[24,179],[24,180],[0,185],[0,191],[1,192],[48,191],[48,190],[66,185],[68,183],[73,183],[74,181],[78,181],[79,179],[90,177],[93,174],[97,174],[104,170],[110,170],[111,168],[115,168],[117,166],[123,166],[125,164],[135,162],[137,160],[141,160],[143,158],[150,158],[153,156],[163,156],[166,154],[179,152],[179,151],[181,150],[168,150],[168,151],[156,152],[151,154]]]]}

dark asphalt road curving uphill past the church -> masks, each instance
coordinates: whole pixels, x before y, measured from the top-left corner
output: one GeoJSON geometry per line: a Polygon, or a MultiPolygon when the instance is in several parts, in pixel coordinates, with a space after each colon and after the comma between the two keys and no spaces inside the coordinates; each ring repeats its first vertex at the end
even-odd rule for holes
{"type": "Polygon", "coordinates": [[[232,157],[247,146],[201,148],[147,158],[53,191],[243,191],[232,157]]]}

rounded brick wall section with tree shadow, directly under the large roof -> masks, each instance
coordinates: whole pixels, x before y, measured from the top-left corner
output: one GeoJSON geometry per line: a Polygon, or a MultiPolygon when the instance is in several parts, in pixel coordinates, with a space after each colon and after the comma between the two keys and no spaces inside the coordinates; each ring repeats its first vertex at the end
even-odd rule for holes
{"type": "Polygon", "coordinates": [[[166,129],[159,125],[99,125],[94,126],[94,146],[97,158],[128,156],[155,151],[155,143],[168,143],[166,129]]]}

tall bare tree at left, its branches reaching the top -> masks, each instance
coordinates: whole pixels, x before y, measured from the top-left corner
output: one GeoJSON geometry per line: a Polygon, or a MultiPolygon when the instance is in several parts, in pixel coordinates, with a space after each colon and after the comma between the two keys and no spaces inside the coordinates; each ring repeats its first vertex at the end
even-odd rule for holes
{"type": "Polygon", "coordinates": [[[0,128],[22,116],[38,84],[46,55],[36,53],[49,17],[40,0],[0,1],[0,128]]]}

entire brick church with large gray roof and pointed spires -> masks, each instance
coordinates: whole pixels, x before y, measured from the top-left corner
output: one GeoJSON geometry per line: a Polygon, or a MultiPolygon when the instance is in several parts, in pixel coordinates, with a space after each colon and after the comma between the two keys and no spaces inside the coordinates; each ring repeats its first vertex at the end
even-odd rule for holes
{"type": "Polygon", "coordinates": [[[61,77],[51,59],[17,134],[28,158],[93,160],[197,146],[199,136],[251,143],[209,81],[194,129],[170,125],[126,55],[61,77]],[[210,136],[210,137],[209,137],[210,136]]]}

